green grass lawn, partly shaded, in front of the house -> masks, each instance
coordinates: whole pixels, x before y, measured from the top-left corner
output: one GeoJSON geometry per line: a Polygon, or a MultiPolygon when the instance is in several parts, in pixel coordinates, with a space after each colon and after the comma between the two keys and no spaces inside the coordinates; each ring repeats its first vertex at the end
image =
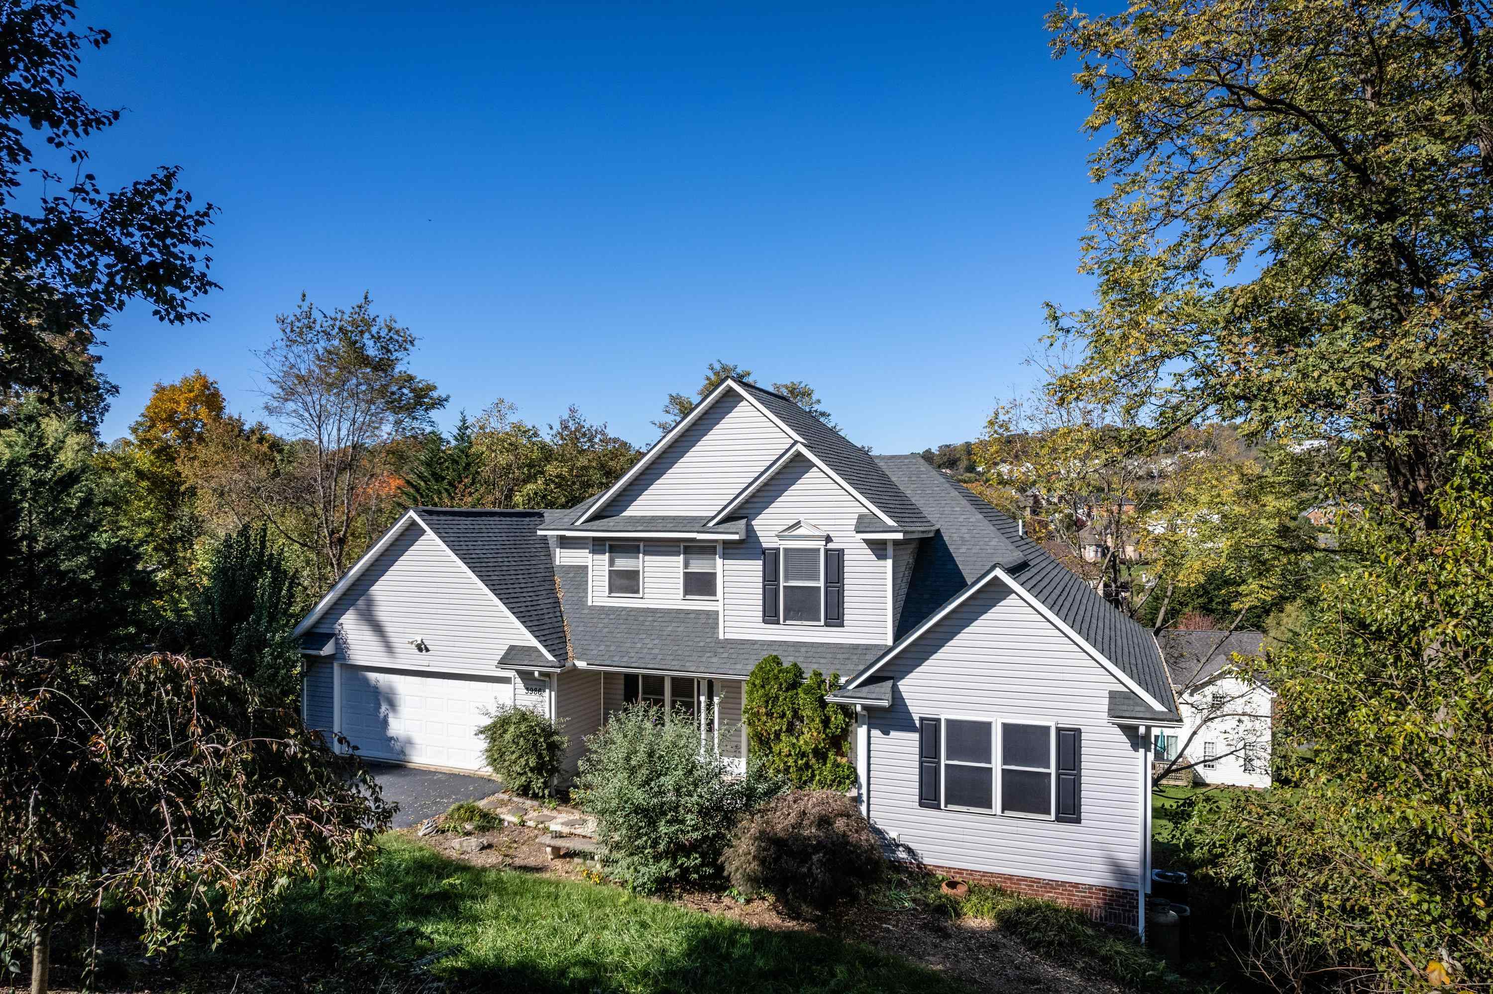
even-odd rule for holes
{"type": "Polygon", "coordinates": [[[185,949],[172,969],[175,988],[393,994],[434,981],[448,991],[964,990],[858,943],[752,928],[615,887],[478,869],[399,836],[381,846],[382,860],[358,884],[331,875],[297,887],[252,937],[185,949]]]}

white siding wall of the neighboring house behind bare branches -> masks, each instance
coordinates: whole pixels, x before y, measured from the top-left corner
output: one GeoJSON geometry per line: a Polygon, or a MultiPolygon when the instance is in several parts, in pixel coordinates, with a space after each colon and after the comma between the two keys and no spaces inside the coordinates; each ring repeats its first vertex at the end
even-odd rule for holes
{"type": "Polygon", "coordinates": [[[1178,700],[1182,727],[1168,728],[1165,734],[1176,736],[1182,754],[1197,764],[1193,767],[1197,781],[1269,787],[1271,707],[1271,691],[1265,687],[1220,676],[1178,700]],[[1223,694],[1218,707],[1212,706],[1214,694],[1223,694]],[[1209,743],[1218,757],[1211,767],[1203,763],[1209,743]],[[1254,757],[1253,770],[1244,769],[1245,751],[1254,757]]]}

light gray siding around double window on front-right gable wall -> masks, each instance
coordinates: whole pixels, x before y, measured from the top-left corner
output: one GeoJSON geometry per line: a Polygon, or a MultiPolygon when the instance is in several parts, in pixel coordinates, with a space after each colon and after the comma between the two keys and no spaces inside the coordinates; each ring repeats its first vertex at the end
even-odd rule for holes
{"type": "Polygon", "coordinates": [[[1133,888],[1141,760],[1106,721],[1120,682],[991,582],[882,670],[893,706],[870,712],[870,819],[935,866],[1133,888]],[[1082,822],[918,806],[920,716],[1051,721],[1082,728],[1082,822]]]}

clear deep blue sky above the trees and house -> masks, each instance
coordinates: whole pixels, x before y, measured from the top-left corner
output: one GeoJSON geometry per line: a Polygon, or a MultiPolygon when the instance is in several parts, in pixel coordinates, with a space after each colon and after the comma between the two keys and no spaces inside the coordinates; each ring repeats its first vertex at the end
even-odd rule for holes
{"type": "Polygon", "coordinates": [[[1085,103],[1047,3],[81,3],[79,88],[121,185],[181,164],[221,207],[211,321],[106,336],[105,437],[364,290],[475,413],[567,404],[633,442],[709,360],[806,379],[847,434],[979,433],[1035,382],[1042,301],[1088,298],[1085,103]]]}

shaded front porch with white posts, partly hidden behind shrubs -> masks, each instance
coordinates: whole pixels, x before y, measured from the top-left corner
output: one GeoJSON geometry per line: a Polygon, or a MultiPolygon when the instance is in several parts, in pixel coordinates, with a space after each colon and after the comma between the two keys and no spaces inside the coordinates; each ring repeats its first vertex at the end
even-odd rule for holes
{"type": "Polygon", "coordinates": [[[655,704],[669,721],[694,722],[700,743],[736,773],[746,772],[746,725],[742,694],[746,681],[648,670],[600,670],[602,715],[632,703],[655,704]]]}

